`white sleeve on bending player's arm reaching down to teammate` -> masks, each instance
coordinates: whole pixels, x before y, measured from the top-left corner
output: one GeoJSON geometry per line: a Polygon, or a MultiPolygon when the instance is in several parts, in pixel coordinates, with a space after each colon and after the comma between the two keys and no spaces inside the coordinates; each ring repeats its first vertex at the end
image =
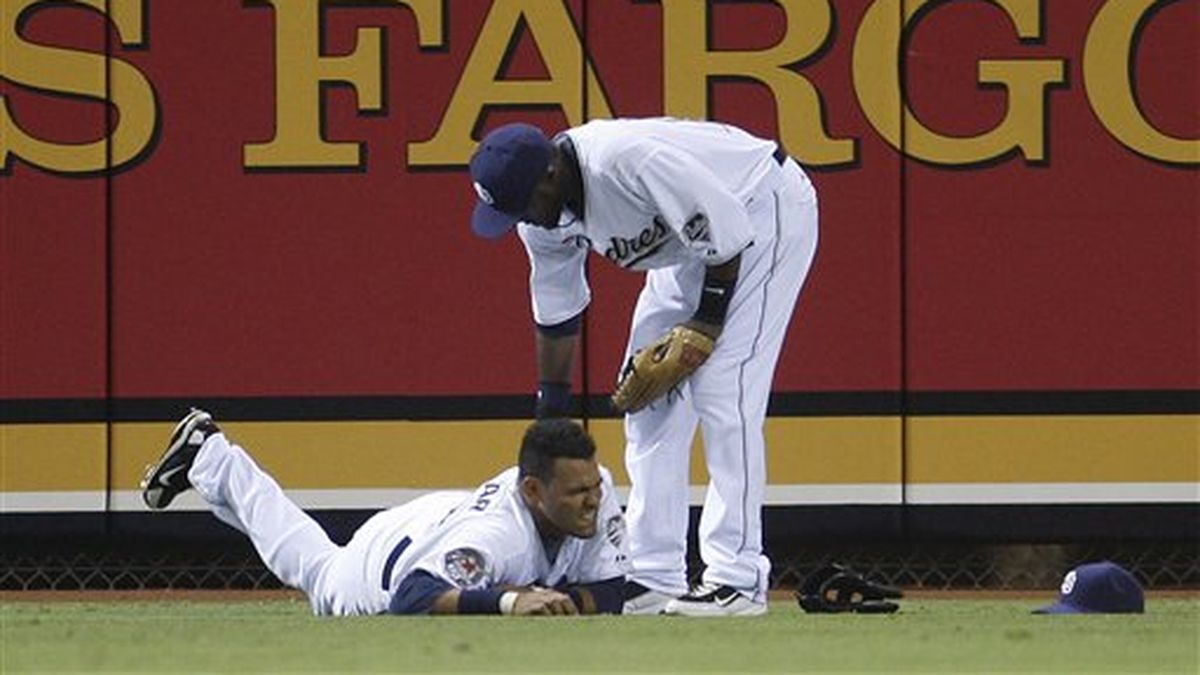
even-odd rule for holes
{"type": "Polygon", "coordinates": [[[539,325],[563,323],[592,301],[584,274],[588,247],[562,231],[521,223],[517,234],[529,256],[529,295],[539,325]],[[565,239],[565,240],[564,240],[565,239]]]}

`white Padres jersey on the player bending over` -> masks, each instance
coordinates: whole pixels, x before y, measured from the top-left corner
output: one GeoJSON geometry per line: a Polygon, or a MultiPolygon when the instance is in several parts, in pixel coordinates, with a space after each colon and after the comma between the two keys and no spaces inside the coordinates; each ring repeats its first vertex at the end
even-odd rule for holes
{"type": "Polygon", "coordinates": [[[566,136],[582,174],[583,217],[556,229],[517,226],[529,255],[534,321],[542,325],[590,301],[588,250],[630,270],[712,265],[766,234],[749,214],[781,180],[772,141],[671,118],[595,120],[566,136]]]}

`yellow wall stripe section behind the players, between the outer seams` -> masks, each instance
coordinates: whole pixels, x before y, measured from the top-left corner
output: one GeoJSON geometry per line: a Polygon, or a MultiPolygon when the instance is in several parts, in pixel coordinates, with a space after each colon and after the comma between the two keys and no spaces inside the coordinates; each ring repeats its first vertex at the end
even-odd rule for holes
{"type": "MultiPolygon", "coordinates": [[[[517,461],[528,422],[247,422],[222,423],[281,484],[319,488],[473,488],[517,461]]],[[[772,483],[887,483],[900,479],[899,419],[772,419],[772,483]]],[[[137,486],[162,452],[169,423],[113,429],[114,489],[137,486]]],[[[590,424],[600,461],[628,484],[619,420],[590,424]]],[[[702,448],[692,450],[694,484],[708,480],[702,448]]]]}

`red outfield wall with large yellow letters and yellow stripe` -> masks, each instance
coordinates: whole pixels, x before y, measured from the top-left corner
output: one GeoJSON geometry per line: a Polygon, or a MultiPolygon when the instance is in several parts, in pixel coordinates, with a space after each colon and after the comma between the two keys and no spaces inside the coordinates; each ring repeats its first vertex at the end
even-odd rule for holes
{"type": "MultiPolygon", "coordinates": [[[[670,114],[820,192],[768,504],[1194,536],[1198,38],[1200,0],[5,0],[0,512],[140,510],[192,404],[314,509],[510,464],[527,262],[468,231],[474,139],[670,114]]],[[[577,412],[625,484],[640,279],[589,277],[577,412]]]]}

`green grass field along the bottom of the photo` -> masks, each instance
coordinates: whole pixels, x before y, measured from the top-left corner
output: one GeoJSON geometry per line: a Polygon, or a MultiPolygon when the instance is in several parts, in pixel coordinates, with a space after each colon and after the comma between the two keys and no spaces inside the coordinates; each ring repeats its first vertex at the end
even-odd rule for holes
{"type": "Polygon", "coordinates": [[[300,601],[0,605],[0,671],[1198,673],[1200,601],[1140,616],[904,601],[892,616],[317,619],[300,601]]]}

